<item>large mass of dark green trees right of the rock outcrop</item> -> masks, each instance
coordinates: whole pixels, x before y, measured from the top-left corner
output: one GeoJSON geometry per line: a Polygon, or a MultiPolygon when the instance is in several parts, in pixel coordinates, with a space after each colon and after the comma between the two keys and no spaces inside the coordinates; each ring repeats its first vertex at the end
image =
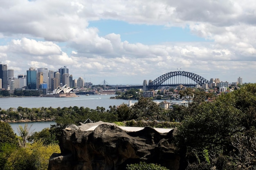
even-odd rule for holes
{"type": "Polygon", "coordinates": [[[186,170],[256,168],[256,84],[185,109],[177,144],[186,170]]]}

